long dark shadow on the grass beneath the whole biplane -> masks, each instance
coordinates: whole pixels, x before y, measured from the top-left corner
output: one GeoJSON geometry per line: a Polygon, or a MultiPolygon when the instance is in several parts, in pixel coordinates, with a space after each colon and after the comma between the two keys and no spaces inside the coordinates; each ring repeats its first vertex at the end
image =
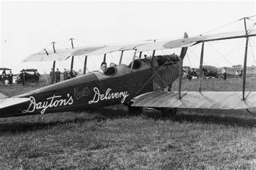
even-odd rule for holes
{"type": "MultiPolygon", "coordinates": [[[[186,111],[185,111],[186,112],[186,111]]],[[[59,113],[61,114],[61,113],[59,113]]],[[[174,122],[188,122],[188,123],[212,123],[219,125],[227,125],[227,126],[244,126],[247,128],[253,128],[256,126],[255,119],[253,118],[239,118],[232,116],[216,116],[209,114],[202,114],[198,112],[193,112],[192,114],[184,114],[184,111],[178,112],[178,114],[173,118],[165,118],[160,111],[143,111],[142,115],[138,115],[143,117],[144,119],[154,119],[155,121],[163,120],[163,121],[174,121],[174,122]],[[200,115],[201,114],[201,115],[200,115]]],[[[35,115],[34,115],[35,116],[35,115]]],[[[41,115],[37,115],[38,119],[40,119],[41,115]]],[[[91,109],[85,111],[77,111],[77,112],[67,112],[64,116],[62,115],[62,119],[57,115],[50,121],[43,120],[35,122],[36,117],[30,116],[27,122],[8,122],[8,123],[0,123],[0,135],[1,133],[19,133],[26,131],[36,131],[42,130],[45,128],[52,128],[58,125],[70,124],[70,123],[86,123],[91,121],[102,122],[111,119],[118,118],[129,118],[133,117],[129,115],[126,107],[105,107],[98,109],[91,109]],[[87,115],[85,115],[87,114],[87,115]],[[85,115],[85,116],[84,116],[85,115]],[[32,122],[32,119],[34,122],[32,122]]],[[[9,118],[11,119],[11,118],[9,118]]]]}

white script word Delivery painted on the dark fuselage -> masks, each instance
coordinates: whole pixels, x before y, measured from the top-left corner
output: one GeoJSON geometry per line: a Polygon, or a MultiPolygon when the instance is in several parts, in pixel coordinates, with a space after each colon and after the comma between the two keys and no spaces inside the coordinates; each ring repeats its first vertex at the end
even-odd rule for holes
{"type": "Polygon", "coordinates": [[[124,103],[125,98],[129,96],[128,91],[121,91],[121,92],[116,92],[116,93],[110,93],[111,88],[107,88],[105,94],[100,94],[100,91],[97,87],[93,88],[93,91],[95,92],[95,95],[93,97],[93,100],[89,101],[89,104],[92,103],[97,103],[99,101],[104,101],[104,100],[110,100],[113,98],[122,98],[121,103],[124,103]]]}

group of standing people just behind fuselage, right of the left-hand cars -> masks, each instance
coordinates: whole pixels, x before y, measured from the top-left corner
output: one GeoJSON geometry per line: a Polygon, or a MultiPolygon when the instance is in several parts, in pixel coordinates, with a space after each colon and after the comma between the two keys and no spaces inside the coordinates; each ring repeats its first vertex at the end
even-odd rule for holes
{"type": "Polygon", "coordinates": [[[77,72],[75,70],[73,70],[72,72],[70,72],[69,70],[66,70],[64,68],[64,72],[61,73],[59,71],[59,69],[57,68],[55,74],[52,74],[52,69],[51,69],[51,72],[50,72],[50,77],[51,77],[51,80],[53,79],[53,82],[55,81],[56,83],[60,82],[60,74],[63,74],[63,80],[68,80],[68,79],[71,79],[73,77],[76,77],[77,76],[77,72]],[[53,76],[53,77],[52,77],[53,76]]]}

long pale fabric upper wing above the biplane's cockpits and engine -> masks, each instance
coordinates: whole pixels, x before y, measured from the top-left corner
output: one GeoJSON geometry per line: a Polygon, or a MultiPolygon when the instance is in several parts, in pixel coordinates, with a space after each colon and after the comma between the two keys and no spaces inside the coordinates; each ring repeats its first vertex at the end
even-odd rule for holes
{"type": "Polygon", "coordinates": [[[125,51],[125,50],[136,50],[136,52],[142,52],[142,51],[152,51],[157,49],[189,47],[204,41],[245,38],[245,37],[252,37],[252,36],[256,36],[256,30],[251,30],[248,34],[246,34],[245,31],[237,31],[237,32],[210,34],[205,36],[196,36],[196,37],[176,39],[176,40],[165,40],[165,41],[158,41],[158,42],[141,42],[137,44],[66,48],[66,49],[58,49],[56,50],[56,52],[48,51],[46,53],[45,51],[43,51],[43,52],[31,54],[30,56],[22,60],[22,62],[54,61],[54,60],[59,61],[59,60],[66,60],[69,58],[69,56],[103,55],[106,53],[111,53],[115,51],[125,51]]]}

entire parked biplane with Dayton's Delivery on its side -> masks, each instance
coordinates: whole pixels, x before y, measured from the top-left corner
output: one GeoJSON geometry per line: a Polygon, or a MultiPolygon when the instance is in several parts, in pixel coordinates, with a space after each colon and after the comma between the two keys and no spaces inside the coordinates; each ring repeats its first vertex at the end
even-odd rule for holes
{"type": "MultiPolygon", "coordinates": [[[[247,18],[244,18],[246,20],[247,18]]],[[[109,105],[125,104],[131,114],[138,114],[145,108],[161,110],[163,115],[176,115],[177,108],[194,109],[255,109],[256,91],[245,94],[247,46],[256,30],[208,34],[176,40],[143,42],[137,44],[93,46],[59,49],[28,56],[23,61],[32,61],[44,56],[51,60],[85,56],[104,55],[121,52],[119,63],[111,63],[105,73],[90,72],[70,80],[51,84],[37,90],[14,97],[0,96],[0,117],[49,114],[53,112],[75,111],[109,105]],[[181,91],[183,60],[188,47],[201,44],[200,80],[204,58],[204,43],[226,39],[246,39],[244,75],[241,91],[181,91]],[[155,55],[157,50],[181,48],[180,55],[155,55]],[[129,65],[123,64],[125,51],[133,51],[129,65]],[[153,51],[152,56],[143,57],[142,52],[153,51]],[[171,89],[173,81],[179,81],[178,91],[171,89]]],[[[53,44],[54,45],[54,44],[53,44]]],[[[53,46],[54,47],[54,46],[53,46]]],[[[54,70],[53,63],[53,70],[54,70]]],[[[201,86],[201,85],[200,85],[201,86]]]]}

